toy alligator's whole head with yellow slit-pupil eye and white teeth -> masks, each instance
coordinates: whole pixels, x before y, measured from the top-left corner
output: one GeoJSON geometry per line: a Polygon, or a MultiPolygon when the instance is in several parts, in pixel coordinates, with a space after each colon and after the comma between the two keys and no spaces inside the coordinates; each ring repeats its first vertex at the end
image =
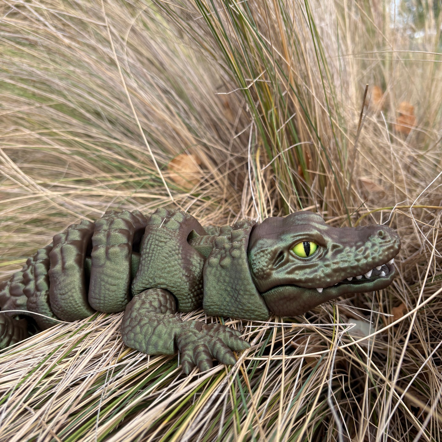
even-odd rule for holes
{"type": "Polygon", "coordinates": [[[305,211],[256,225],[248,260],[271,312],[296,316],[347,293],[389,286],[399,250],[400,238],[388,227],[336,228],[305,211]]]}

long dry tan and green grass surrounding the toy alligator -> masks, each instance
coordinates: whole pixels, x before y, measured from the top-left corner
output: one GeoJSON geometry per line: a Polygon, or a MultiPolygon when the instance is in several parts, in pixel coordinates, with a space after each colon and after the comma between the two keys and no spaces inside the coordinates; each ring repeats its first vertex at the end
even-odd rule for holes
{"type": "Polygon", "coordinates": [[[387,290],[224,318],[252,343],[234,367],[184,377],[177,357],[127,349],[121,315],[34,335],[0,355],[0,440],[441,439],[442,17],[419,37],[368,1],[0,0],[0,14],[2,276],[108,207],[203,225],[310,209],[403,240],[387,290]],[[409,131],[394,129],[403,102],[409,131]],[[183,154],[199,183],[176,179],[183,154]]]}

